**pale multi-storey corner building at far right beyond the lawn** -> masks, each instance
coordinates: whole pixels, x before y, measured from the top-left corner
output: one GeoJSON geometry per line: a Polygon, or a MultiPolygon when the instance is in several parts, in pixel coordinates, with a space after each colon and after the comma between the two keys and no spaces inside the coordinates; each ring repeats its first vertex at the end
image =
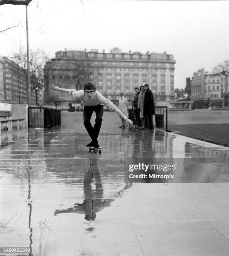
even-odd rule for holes
{"type": "Polygon", "coordinates": [[[209,74],[199,69],[191,80],[193,108],[223,107],[225,90],[225,75],[209,74]]]}

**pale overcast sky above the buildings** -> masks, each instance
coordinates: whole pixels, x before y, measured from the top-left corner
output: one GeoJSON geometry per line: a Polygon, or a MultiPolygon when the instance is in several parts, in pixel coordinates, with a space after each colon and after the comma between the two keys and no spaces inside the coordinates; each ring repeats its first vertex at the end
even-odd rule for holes
{"type": "MultiPolygon", "coordinates": [[[[173,54],[175,88],[229,59],[229,1],[33,0],[29,45],[56,51],[105,49],[173,54]]],[[[0,6],[0,55],[26,49],[25,6],[0,6]]]]}

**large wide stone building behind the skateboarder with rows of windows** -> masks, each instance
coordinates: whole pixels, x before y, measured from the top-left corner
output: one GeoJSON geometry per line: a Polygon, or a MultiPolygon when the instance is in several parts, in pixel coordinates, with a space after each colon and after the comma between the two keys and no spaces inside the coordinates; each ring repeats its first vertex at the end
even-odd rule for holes
{"type": "MultiPolygon", "coordinates": [[[[157,105],[169,105],[174,99],[174,64],[173,55],[166,52],[142,54],[138,51],[128,53],[119,48],[111,49],[110,53],[103,50],[57,51],[56,58],[48,61],[44,68],[46,74],[45,101],[71,100],[69,95],[53,94],[51,85],[65,88],[81,89],[82,84],[74,82],[74,71],[67,68],[72,61],[89,62],[96,72],[97,90],[105,97],[117,100],[120,92],[132,100],[134,88],[149,84],[157,105]],[[68,79],[64,80],[64,77],[68,79]],[[72,77],[71,80],[69,77],[72,77]],[[72,82],[69,82],[69,81],[72,82]],[[68,82],[66,82],[68,81],[68,82]]],[[[93,79],[93,78],[92,78],[93,79]]]]}

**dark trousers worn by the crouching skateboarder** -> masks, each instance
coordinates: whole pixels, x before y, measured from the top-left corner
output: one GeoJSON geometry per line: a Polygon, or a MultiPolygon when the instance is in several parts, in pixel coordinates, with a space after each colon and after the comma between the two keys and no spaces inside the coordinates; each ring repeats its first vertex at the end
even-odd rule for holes
{"type": "Polygon", "coordinates": [[[102,125],[103,105],[84,106],[84,126],[93,142],[98,142],[99,131],[102,125]],[[95,111],[96,118],[94,127],[91,124],[92,113],[95,111]]]}

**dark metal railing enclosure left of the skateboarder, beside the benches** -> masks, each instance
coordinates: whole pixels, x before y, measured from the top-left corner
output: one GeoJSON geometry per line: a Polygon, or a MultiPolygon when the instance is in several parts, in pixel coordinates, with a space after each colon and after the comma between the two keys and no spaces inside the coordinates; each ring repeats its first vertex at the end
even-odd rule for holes
{"type": "Polygon", "coordinates": [[[53,128],[60,125],[61,110],[43,107],[28,108],[28,127],[53,128]]]}

